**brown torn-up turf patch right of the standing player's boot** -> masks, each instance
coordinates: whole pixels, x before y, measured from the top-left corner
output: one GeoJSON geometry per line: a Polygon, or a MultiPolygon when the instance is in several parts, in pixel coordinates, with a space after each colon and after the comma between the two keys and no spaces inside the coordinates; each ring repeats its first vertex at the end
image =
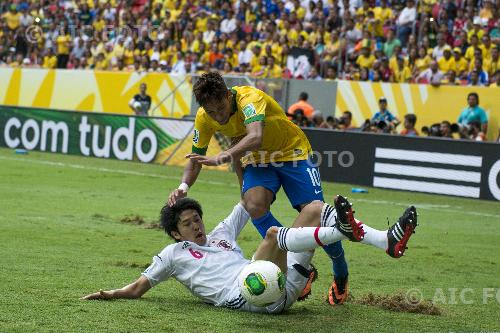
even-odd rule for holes
{"type": "Polygon", "coordinates": [[[420,313],[440,316],[442,310],[428,300],[413,300],[407,293],[398,292],[394,295],[375,295],[369,293],[356,298],[354,303],[376,306],[389,311],[420,313]]]}

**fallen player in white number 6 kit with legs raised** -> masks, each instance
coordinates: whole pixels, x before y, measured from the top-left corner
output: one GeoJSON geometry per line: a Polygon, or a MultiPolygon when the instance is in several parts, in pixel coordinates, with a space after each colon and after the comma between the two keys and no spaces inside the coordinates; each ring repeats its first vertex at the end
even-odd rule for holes
{"type": "Polygon", "coordinates": [[[340,240],[361,241],[381,248],[391,257],[403,255],[417,226],[413,206],[406,209],[389,230],[379,231],[362,224],[351,204],[342,196],[335,206],[315,201],[306,206],[292,228],[271,227],[253,259],[268,260],[286,274],[283,297],[267,307],[257,307],[240,295],[237,277],[250,263],[236,239],[249,219],[238,203],[232,213],[208,235],[200,204],[190,198],[166,205],[161,225],[175,241],[153,257],[153,263],[133,283],[121,288],[89,294],[82,299],[139,298],[150,288],[174,277],[205,303],[252,312],[279,313],[289,308],[308,282],[314,249],[340,240]]]}

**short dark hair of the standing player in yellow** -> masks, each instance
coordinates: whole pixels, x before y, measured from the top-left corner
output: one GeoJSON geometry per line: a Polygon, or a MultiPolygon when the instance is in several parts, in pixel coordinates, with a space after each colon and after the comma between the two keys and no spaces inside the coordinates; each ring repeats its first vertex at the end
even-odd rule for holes
{"type": "Polygon", "coordinates": [[[193,87],[194,97],[201,106],[227,96],[227,86],[218,72],[208,72],[200,76],[193,87]]]}

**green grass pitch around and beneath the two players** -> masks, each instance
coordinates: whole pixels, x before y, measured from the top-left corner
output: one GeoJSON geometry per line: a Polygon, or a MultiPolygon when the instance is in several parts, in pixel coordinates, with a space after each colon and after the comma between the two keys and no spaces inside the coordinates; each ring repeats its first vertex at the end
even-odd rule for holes
{"type": "MultiPolygon", "coordinates": [[[[157,222],[181,173],[175,167],[0,149],[0,332],[500,331],[499,302],[483,304],[483,288],[500,288],[498,202],[372,188],[351,194],[349,185],[332,183],[323,183],[327,200],[348,195],[356,216],[373,227],[386,228],[387,219],[394,222],[409,203],[420,213],[404,258],[345,242],[352,301],[344,306],[325,303],[332,273],[322,251],[313,260],[320,277],[312,296],[279,316],[205,305],[173,279],[140,300],[79,300],[133,281],[171,242],[148,226],[157,222]],[[458,289],[455,301],[449,288],[458,289]],[[461,302],[463,288],[472,290],[465,295],[473,304],[461,302]],[[364,305],[414,289],[427,300],[437,297],[441,315],[364,305]]],[[[208,230],[238,200],[235,177],[204,171],[190,191],[204,206],[208,230]]],[[[285,225],[296,216],[283,192],[273,213],[285,225]]],[[[247,226],[239,244],[248,257],[258,243],[257,232],[247,226]]]]}

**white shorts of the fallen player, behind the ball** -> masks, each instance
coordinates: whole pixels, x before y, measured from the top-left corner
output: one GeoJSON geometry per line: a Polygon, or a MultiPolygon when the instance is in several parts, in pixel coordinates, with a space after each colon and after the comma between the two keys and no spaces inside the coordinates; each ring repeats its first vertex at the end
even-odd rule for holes
{"type": "Polygon", "coordinates": [[[300,293],[306,286],[307,280],[309,279],[309,277],[305,277],[300,274],[293,265],[299,264],[302,267],[309,269],[309,265],[311,264],[313,255],[314,252],[310,251],[301,253],[287,253],[288,269],[286,274],[285,293],[275,303],[266,307],[255,306],[248,303],[243,298],[243,296],[239,295],[238,297],[227,301],[224,306],[231,309],[259,313],[280,313],[288,309],[300,296],[300,293]]]}

